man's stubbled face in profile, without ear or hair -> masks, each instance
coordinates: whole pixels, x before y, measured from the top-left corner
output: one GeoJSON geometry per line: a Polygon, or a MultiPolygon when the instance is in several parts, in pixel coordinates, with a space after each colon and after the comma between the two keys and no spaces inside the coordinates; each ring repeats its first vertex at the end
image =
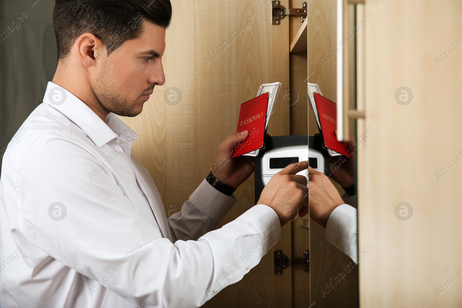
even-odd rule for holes
{"type": "Polygon", "coordinates": [[[101,104],[116,115],[139,115],[154,86],[165,82],[161,59],[165,29],[151,22],[142,26],[140,37],[124,42],[95,63],[93,91],[101,104]]]}

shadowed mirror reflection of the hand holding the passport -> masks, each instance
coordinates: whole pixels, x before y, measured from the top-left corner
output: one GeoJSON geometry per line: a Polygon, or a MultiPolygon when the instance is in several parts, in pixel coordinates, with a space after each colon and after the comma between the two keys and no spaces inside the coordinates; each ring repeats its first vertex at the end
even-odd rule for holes
{"type": "Polygon", "coordinates": [[[332,156],[330,157],[330,177],[332,180],[340,184],[341,187],[351,187],[355,184],[354,172],[355,172],[355,151],[353,135],[350,134],[350,139],[346,142],[342,142],[346,145],[350,157],[345,156],[332,156]]]}

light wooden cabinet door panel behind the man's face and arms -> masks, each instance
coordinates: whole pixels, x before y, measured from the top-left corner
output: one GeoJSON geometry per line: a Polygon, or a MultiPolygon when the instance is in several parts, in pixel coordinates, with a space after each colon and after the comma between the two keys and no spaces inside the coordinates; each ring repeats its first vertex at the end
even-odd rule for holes
{"type": "MultiPolygon", "coordinates": [[[[288,7],[288,0],[281,1],[288,7]]],[[[282,87],[267,133],[289,135],[289,26],[271,25],[268,0],[172,1],[163,58],[166,82],[156,86],[141,115],[133,153],[150,171],[167,213],[175,212],[211,170],[219,144],[236,132],[240,104],[263,83],[282,87]]],[[[300,123],[306,127],[306,123],[300,123]]],[[[237,205],[219,227],[255,205],[254,176],[234,193],[237,205]]],[[[290,223],[274,249],[291,256],[290,223]]],[[[292,307],[292,275],[274,275],[269,252],[243,280],[204,307],[292,307]]]]}

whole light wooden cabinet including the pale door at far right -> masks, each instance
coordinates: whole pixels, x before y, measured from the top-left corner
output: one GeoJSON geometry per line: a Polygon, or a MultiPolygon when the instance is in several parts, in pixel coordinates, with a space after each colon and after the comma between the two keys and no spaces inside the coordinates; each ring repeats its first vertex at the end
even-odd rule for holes
{"type": "MultiPolygon", "coordinates": [[[[270,252],[204,307],[461,305],[455,272],[462,275],[462,140],[456,125],[462,114],[462,4],[358,2],[343,0],[342,118],[359,145],[359,265],[325,241],[322,227],[297,218],[282,228],[275,249],[290,258],[309,249],[309,273],[293,266],[274,275],[270,252]],[[354,109],[360,112],[349,111],[354,109]],[[352,120],[363,110],[364,119],[352,120]],[[406,213],[412,218],[406,220],[406,213]],[[340,272],[346,275],[336,282],[340,272]]],[[[306,82],[337,101],[337,3],[307,1],[304,23],[286,17],[272,25],[272,1],[173,2],[166,83],[155,88],[139,117],[124,119],[143,129],[134,155],[151,172],[166,212],[208,173],[219,144],[235,132],[240,104],[262,83],[282,82],[268,133],[317,133],[306,82]]],[[[219,226],[254,205],[253,176],[235,194],[239,202],[219,226]]]]}

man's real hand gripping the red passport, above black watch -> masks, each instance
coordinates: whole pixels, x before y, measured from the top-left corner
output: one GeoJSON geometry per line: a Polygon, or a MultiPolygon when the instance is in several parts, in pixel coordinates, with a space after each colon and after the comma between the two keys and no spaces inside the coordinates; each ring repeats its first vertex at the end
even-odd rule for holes
{"type": "MultiPolygon", "coordinates": [[[[249,136],[249,131],[242,133],[233,133],[220,144],[212,169],[212,174],[217,179],[234,188],[247,180],[255,169],[255,157],[239,156],[232,158],[233,149],[249,136]]],[[[269,135],[267,134],[267,136],[269,135]]]]}

